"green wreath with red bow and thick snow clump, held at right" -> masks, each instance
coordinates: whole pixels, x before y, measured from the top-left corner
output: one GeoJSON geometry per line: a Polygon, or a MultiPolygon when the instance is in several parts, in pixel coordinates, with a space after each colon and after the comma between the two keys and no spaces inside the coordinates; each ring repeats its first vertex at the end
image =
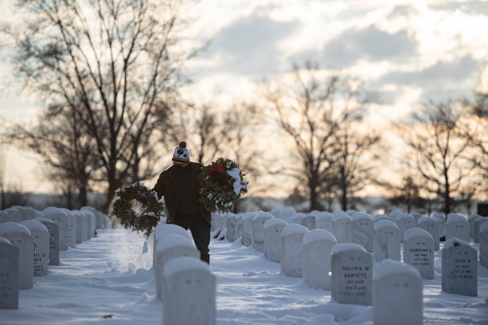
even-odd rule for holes
{"type": "Polygon", "coordinates": [[[241,195],[247,193],[248,181],[233,160],[218,158],[202,171],[198,176],[200,202],[210,212],[229,212],[241,195]]]}

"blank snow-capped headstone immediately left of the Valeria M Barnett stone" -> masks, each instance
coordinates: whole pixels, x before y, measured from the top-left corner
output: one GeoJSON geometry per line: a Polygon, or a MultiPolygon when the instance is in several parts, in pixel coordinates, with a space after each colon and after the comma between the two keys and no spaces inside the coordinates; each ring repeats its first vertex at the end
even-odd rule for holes
{"type": "Polygon", "coordinates": [[[308,287],[330,291],[330,256],[337,241],[324,229],[305,233],[302,277],[308,287]]]}

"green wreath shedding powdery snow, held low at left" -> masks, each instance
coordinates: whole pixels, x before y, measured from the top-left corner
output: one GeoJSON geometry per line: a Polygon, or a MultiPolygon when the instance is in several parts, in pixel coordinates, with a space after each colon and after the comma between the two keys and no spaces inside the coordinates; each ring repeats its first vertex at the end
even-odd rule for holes
{"type": "Polygon", "coordinates": [[[136,182],[115,191],[108,216],[119,220],[125,229],[144,231],[149,236],[158,225],[163,210],[158,194],[145,187],[144,183],[136,182]]]}

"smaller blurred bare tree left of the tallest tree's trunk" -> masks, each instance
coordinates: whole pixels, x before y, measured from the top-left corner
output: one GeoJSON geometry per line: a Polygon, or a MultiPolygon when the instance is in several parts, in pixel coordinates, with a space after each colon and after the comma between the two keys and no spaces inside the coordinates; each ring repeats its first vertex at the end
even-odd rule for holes
{"type": "Polygon", "coordinates": [[[15,124],[6,132],[6,138],[38,153],[47,166],[44,168],[47,179],[57,184],[60,195],[76,193],[77,202],[70,200],[69,205],[79,209],[88,204],[87,191],[102,167],[95,139],[86,124],[78,123],[76,115],[60,108],[53,116],[47,110],[39,117],[37,126],[26,128],[15,124]]]}

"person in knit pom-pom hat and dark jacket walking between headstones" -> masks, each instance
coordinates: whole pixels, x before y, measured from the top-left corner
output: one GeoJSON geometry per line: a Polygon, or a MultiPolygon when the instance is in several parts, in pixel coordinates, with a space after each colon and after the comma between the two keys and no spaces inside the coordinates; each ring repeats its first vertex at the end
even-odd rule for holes
{"type": "Polygon", "coordinates": [[[195,246],[200,250],[200,258],[210,263],[211,212],[200,203],[198,175],[203,165],[190,161],[186,142],[180,142],[173,153],[173,166],[163,171],[152,189],[158,198],[164,197],[167,210],[167,224],[176,224],[190,229],[195,246]]]}

